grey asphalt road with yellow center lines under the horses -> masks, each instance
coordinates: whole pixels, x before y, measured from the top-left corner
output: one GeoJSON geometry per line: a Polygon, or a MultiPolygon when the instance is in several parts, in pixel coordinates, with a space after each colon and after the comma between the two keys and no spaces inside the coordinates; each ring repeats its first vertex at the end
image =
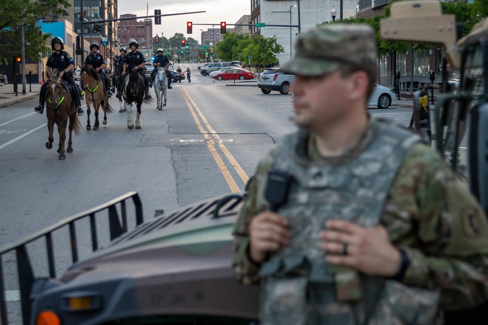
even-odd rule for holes
{"type": "MultiPolygon", "coordinates": [[[[1,109],[0,248],[128,191],[139,192],[148,220],[155,210],[169,212],[244,189],[259,159],[295,129],[293,110],[290,95],[264,95],[252,83],[229,83],[214,82],[195,70],[191,83],[173,83],[163,111],[156,110],[151,90],[154,100],[142,105],[141,130],[127,128],[127,114],[118,113],[114,96],[110,104],[116,113],[98,131],[86,131],[87,114],[81,116],[81,137],[73,139],[74,152],[65,160],[56,152],[56,128],[54,148],[45,147],[47,119],[33,112],[37,99],[1,109]]],[[[410,109],[398,107],[369,112],[402,125],[411,115],[410,109]]],[[[93,112],[91,120],[93,125],[93,112]]],[[[106,223],[99,224],[107,233],[106,223]]],[[[81,258],[91,249],[85,226],[78,229],[81,258]]],[[[67,234],[60,231],[58,237],[56,268],[61,274],[70,257],[67,234]]],[[[42,246],[29,247],[34,267],[40,269],[36,276],[46,276],[42,246]]],[[[14,262],[13,255],[4,259],[9,304],[18,300],[10,267],[14,262]]]]}

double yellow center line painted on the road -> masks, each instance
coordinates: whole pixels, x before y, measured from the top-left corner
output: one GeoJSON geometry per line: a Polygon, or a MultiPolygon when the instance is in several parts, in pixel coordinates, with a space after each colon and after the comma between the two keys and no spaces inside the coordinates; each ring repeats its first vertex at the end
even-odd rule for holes
{"type": "Polygon", "coordinates": [[[210,126],[208,123],[207,119],[205,116],[203,116],[202,111],[198,108],[197,104],[193,101],[193,99],[190,97],[186,89],[184,87],[179,87],[180,91],[182,92],[183,98],[186,102],[186,105],[188,106],[188,109],[191,112],[191,115],[193,116],[193,119],[195,120],[195,123],[197,124],[198,129],[200,130],[200,133],[203,134],[203,137],[205,138],[205,141],[207,142],[207,148],[212,154],[215,162],[217,163],[217,166],[219,166],[219,170],[222,172],[222,175],[224,175],[225,181],[227,182],[227,185],[230,188],[230,191],[232,192],[238,192],[241,191],[239,187],[237,186],[236,181],[230,174],[229,170],[227,169],[227,166],[225,166],[224,161],[220,157],[219,153],[217,152],[217,149],[215,148],[215,144],[217,144],[218,148],[224,153],[225,157],[229,160],[229,163],[234,167],[235,171],[239,174],[241,177],[242,181],[244,184],[247,184],[247,181],[249,181],[249,177],[247,174],[244,172],[242,167],[237,163],[236,159],[232,156],[232,154],[227,150],[227,148],[224,146],[224,143],[222,142],[220,135],[217,134],[214,129],[210,126]],[[191,102],[191,104],[190,104],[191,102]],[[193,105],[193,107],[192,107],[193,105]],[[200,120],[197,116],[197,114],[200,116],[200,118],[203,121],[203,125],[205,128],[203,128],[202,123],[200,123],[200,120]],[[207,131],[208,130],[208,131],[207,131]]]}

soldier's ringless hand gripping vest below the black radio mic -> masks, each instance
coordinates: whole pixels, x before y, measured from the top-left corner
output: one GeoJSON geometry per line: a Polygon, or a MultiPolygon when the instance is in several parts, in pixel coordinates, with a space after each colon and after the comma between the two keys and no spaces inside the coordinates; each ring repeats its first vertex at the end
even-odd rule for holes
{"type": "Polygon", "coordinates": [[[261,263],[269,251],[276,251],[286,245],[290,238],[287,220],[279,214],[265,211],[256,215],[249,225],[249,253],[261,263]]]}

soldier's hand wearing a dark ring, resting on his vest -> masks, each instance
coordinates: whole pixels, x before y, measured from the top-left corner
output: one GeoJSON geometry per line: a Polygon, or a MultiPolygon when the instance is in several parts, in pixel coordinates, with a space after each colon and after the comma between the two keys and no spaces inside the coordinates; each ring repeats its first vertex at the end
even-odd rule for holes
{"type": "Polygon", "coordinates": [[[383,226],[366,229],[347,221],[329,220],[320,238],[330,264],[380,276],[393,276],[400,265],[400,252],[390,243],[383,226]]]}

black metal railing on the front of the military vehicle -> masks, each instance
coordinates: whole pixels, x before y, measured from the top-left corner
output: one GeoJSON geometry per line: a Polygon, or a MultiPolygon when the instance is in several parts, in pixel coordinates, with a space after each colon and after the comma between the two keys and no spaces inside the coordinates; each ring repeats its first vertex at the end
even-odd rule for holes
{"type": "Polygon", "coordinates": [[[22,322],[24,325],[27,325],[29,324],[30,313],[31,313],[31,300],[29,296],[30,296],[30,290],[35,281],[35,277],[34,277],[34,270],[31,265],[31,260],[29,259],[27,253],[26,245],[28,243],[35,241],[36,239],[45,237],[49,277],[56,278],[52,232],[54,230],[63,228],[64,226],[69,227],[69,239],[71,243],[71,259],[73,263],[76,263],[78,262],[78,242],[76,239],[75,221],[83,219],[85,217],[90,217],[92,250],[95,251],[99,247],[96,219],[95,219],[96,213],[104,210],[108,210],[110,240],[112,241],[115,238],[122,235],[123,233],[127,232],[127,209],[126,209],[125,201],[128,199],[132,199],[134,204],[136,225],[142,224],[143,222],[142,203],[141,203],[141,199],[139,198],[139,194],[137,192],[128,192],[98,207],[95,207],[93,209],[81,212],[67,219],[64,219],[53,226],[43,229],[23,239],[18,243],[0,249],[0,323],[3,325],[8,324],[2,255],[9,253],[11,251],[15,251],[15,255],[17,259],[17,274],[19,277],[22,322]],[[121,220],[119,219],[119,213],[117,211],[118,205],[120,206],[122,224],[121,224],[121,220]]]}

